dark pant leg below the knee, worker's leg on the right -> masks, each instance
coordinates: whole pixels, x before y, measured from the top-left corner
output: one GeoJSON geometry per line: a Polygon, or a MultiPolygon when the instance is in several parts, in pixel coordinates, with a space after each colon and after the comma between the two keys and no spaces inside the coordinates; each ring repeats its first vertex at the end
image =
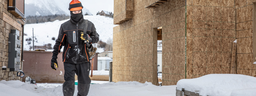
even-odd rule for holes
{"type": "Polygon", "coordinates": [[[90,84],[82,84],[78,82],[77,89],[78,93],[77,96],[87,96],[89,92],[90,84]]]}

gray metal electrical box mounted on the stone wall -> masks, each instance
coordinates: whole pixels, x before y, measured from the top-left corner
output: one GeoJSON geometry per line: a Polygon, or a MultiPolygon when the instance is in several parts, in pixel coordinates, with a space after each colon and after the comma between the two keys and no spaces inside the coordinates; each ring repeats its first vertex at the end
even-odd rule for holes
{"type": "Polygon", "coordinates": [[[11,30],[9,34],[9,56],[8,56],[8,68],[10,71],[20,70],[20,31],[11,30]]]}

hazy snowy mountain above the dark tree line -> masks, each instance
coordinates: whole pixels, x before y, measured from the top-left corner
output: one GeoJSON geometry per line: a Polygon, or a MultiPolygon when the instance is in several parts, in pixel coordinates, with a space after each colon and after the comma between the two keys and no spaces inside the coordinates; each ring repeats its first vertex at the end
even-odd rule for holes
{"type": "MultiPolygon", "coordinates": [[[[70,2],[71,0],[25,0],[25,16],[54,14],[70,15],[70,11],[68,10],[70,2]]],[[[82,11],[83,14],[87,12],[89,15],[92,15],[85,6],[82,11]]]]}

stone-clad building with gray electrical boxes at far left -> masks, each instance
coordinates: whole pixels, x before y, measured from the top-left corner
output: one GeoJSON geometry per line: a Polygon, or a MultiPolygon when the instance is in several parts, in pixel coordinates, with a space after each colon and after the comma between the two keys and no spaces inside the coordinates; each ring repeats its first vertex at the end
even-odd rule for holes
{"type": "Polygon", "coordinates": [[[0,21],[0,81],[21,80],[16,73],[23,64],[24,0],[1,0],[0,21]]]}

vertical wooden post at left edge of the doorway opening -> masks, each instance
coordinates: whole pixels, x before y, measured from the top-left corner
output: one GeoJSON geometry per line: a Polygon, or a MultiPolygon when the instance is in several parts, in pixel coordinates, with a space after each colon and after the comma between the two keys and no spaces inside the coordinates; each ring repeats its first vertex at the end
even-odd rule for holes
{"type": "Polygon", "coordinates": [[[153,29],[153,83],[154,85],[158,85],[158,77],[157,77],[157,28],[153,29]]]}

